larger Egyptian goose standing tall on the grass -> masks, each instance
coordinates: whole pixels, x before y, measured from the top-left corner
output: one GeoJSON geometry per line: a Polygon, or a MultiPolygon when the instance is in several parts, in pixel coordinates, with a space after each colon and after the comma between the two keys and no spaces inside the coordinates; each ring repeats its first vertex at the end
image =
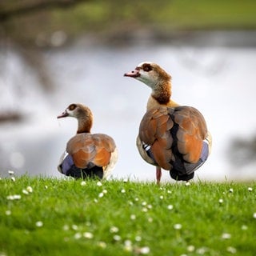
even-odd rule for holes
{"type": "Polygon", "coordinates": [[[124,74],[152,90],[146,114],[139,126],[137,147],[142,158],[156,166],[157,182],[162,169],[170,177],[189,181],[208,158],[211,135],[202,114],[192,106],[179,106],[171,96],[171,76],[152,62],[142,62],[124,74]]]}

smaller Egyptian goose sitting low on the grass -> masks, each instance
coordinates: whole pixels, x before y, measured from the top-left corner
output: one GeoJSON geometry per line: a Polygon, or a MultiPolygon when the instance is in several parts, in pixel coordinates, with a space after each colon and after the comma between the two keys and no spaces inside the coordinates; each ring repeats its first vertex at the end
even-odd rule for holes
{"type": "Polygon", "coordinates": [[[57,118],[78,119],[78,131],[66,144],[58,171],[74,178],[106,178],[118,160],[113,138],[91,134],[93,114],[87,106],[71,104],[57,118]]]}

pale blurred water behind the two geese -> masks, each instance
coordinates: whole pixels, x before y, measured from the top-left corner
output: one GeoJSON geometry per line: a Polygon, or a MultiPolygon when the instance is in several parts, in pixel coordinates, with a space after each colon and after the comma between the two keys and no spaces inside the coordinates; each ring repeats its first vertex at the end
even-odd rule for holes
{"type": "MultiPolygon", "coordinates": [[[[58,158],[77,123],[56,117],[70,103],[82,102],[94,113],[93,132],[110,134],[117,143],[119,160],[113,177],[153,180],[154,166],[142,160],[135,146],[150,89],[123,77],[139,62],[151,61],[172,75],[174,101],[198,108],[213,135],[212,154],[196,179],[256,178],[254,166],[230,166],[227,151],[232,138],[248,138],[255,131],[256,48],[80,43],[47,51],[43,57],[57,85],[50,93],[42,90],[17,53],[2,54],[0,107],[21,110],[27,118],[0,125],[0,176],[14,170],[60,177],[58,158]]],[[[163,179],[170,180],[168,172],[163,179]]]]}

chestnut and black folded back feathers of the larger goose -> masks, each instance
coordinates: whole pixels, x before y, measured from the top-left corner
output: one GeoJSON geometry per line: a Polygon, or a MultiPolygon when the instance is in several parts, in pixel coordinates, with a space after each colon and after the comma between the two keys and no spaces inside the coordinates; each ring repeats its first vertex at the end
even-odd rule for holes
{"type": "MultiPolygon", "coordinates": [[[[198,162],[206,133],[206,122],[193,107],[159,107],[146,112],[139,127],[138,138],[151,146],[150,154],[153,154],[158,166],[172,170],[173,166],[181,162],[198,162]]],[[[180,169],[186,169],[186,166],[180,169]]]]}

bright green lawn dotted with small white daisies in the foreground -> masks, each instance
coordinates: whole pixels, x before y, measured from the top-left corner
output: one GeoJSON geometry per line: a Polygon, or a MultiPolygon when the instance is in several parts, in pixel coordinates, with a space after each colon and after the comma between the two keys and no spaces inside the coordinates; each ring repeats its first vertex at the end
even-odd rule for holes
{"type": "Polygon", "coordinates": [[[0,255],[256,251],[256,182],[81,182],[2,178],[0,255]],[[21,198],[12,200],[15,194],[21,198]]]}

